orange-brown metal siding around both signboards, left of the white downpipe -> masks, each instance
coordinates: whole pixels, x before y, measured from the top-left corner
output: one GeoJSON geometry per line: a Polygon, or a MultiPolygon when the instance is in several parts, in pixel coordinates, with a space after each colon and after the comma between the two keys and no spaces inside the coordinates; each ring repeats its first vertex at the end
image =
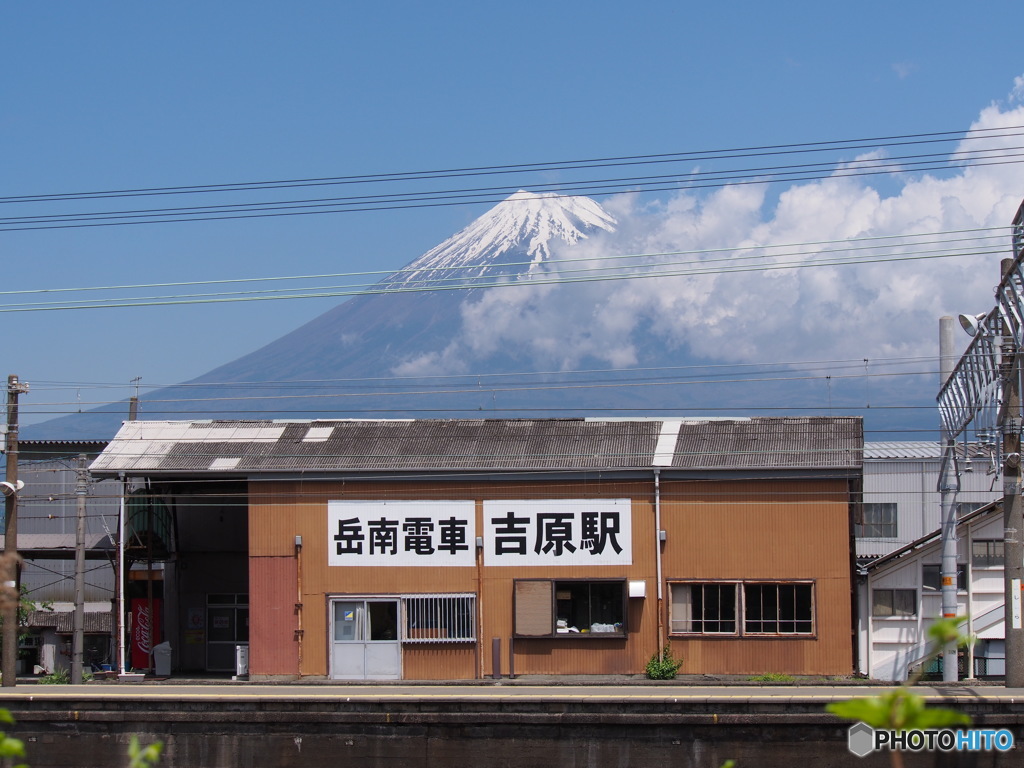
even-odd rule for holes
{"type": "MultiPolygon", "coordinates": [[[[415,483],[393,485],[386,482],[345,484],[339,482],[288,481],[250,484],[250,553],[252,569],[260,563],[295,558],[295,536],[302,536],[303,583],[303,664],[305,675],[328,674],[328,610],[331,596],[375,596],[415,593],[470,592],[477,595],[479,665],[481,674],[493,672],[490,640],[502,640],[502,668],[508,673],[509,640],[512,637],[512,584],[515,579],[625,579],[645,580],[647,597],[630,599],[627,640],[567,640],[562,638],[531,640],[529,646],[517,640],[517,674],[640,674],[656,651],[656,577],[653,521],[653,479],[651,482],[611,483],[485,483],[463,485],[415,483]],[[477,501],[477,529],[482,528],[484,499],[597,499],[633,500],[633,564],[629,566],[573,566],[510,568],[507,566],[419,568],[339,568],[328,565],[327,502],[332,499],[419,499],[477,501]],[[520,657],[520,650],[523,655],[520,657]]],[[[281,574],[295,585],[296,577],[281,574]]],[[[264,597],[256,592],[254,604],[264,597]]],[[[275,593],[281,606],[291,606],[294,595],[275,593]]],[[[409,646],[403,653],[411,651],[409,646]]],[[[419,664],[419,662],[417,662],[419,664]]],[[[452,664],[463,670],[465,659],[452,656],[452,664]],[[459,660],[456,660],[456,659],[459,660]]],[[[419,670],[419,667],[410,668],[419,670]]],[[[451,668],[453,671],[456,667],[451,668]]],[[[254,674],[256,673],[254,670],[254,674]]],[[[417,675],[420,672],[416,672],[417,675]]]]}

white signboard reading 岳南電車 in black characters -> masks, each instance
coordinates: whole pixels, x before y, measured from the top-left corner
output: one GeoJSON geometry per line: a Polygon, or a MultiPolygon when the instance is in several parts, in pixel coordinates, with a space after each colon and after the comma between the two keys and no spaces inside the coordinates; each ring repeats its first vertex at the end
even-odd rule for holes
{"type": "Polygon", "coordinates": [[[476,504],[327,504],[328,565],[475,565],[476,504]]]}

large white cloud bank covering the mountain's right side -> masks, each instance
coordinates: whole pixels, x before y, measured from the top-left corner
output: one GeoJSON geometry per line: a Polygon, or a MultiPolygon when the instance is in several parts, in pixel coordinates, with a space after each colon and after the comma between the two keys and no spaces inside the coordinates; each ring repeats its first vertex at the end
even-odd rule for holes
{"type": "MultiPolygon", "coordinates": [[[[1024,78],[1012,98],[1024,99],[1024,78]]],[[[972,130],[1022,124],[1024,105],[992,104],[972,130]]],[[[958,157],[1015,143],[965,142],[958,157]]],[[[713,249],[756,254],[760,245],[1006,227],[1024,197],[1021,179],[1019,165],[965,165],[942,176],[906,175],[886,193],[877,177],[837,174],[794,184],[777,199],[764,184],[655,203],[625,196],[603,203],[621,224],[615,233],[556,258],[701,251],[701,262],[714,267],[739,254],[713,249]]],[[[1001,245],[1009,255],[1009,234],[1001,245]]],[[[800,258],[809,262],[838,247],[808,247],[800,258]]],[[[997,280],[998,257],[984,254],[492,290],[464,306],[462,331],[447,349],[399,373],[471,370],[508,350],[534,370],[635,366],[651,346],[722,362],[933,356],[938,318],[987,311],[997,280]]]]}

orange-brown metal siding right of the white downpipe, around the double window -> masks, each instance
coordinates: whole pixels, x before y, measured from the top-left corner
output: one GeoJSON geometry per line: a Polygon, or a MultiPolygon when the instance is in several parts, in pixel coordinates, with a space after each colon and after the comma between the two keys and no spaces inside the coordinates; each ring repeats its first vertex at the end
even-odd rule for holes
{"type": "Polygon", "coordinates": [[[667,581],[814,583],[813,638],[676,636],[671,645],[684,673],[850,674],[846,482],[665,482],[663,489],[667,581]]]}

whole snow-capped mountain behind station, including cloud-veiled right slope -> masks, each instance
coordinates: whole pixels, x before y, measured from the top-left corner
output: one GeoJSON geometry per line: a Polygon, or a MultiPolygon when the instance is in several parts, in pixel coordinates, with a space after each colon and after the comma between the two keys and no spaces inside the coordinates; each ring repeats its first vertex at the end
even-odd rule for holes
{"type": "MultiPolygon", "coordinates": [[[[138,418],[742,416],[804,413],[822,400],[820,381],[777,369],[719,359],[687,370],[708,361],[659,327],[658,312],[671,310],[646,307],[625,336],[622,325],[606,333],[628,295],[573,283],[587,269],[601,274],[587,243],[615,229],[593,200],[520,190],[365,294],[146,394],[138,418]],[[626,348],[617,365],[616,343],[626,348]]],[[[842,401],[836,386],[822,413],[834,413],[833,394],[842,401]]],[[[104,439],[127,416],[127,402],[112,403],[23,434],[104,439]]]]}

